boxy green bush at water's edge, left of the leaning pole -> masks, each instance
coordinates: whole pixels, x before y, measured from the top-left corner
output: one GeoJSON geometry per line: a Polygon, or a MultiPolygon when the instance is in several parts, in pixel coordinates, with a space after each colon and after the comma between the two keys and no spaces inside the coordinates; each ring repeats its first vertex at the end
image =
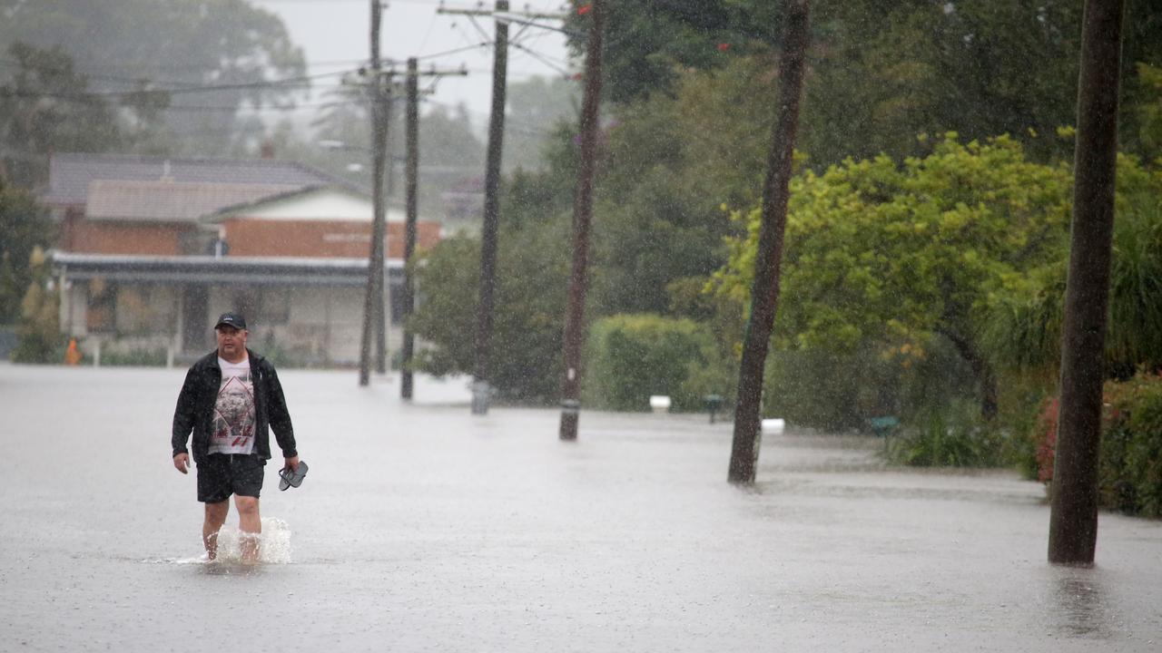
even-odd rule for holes
{"type": "Polygon", "coordinates": [[[615,315],[589,331],[586,403],[612,410],[647,410],[651,395],[668,395],[672,409],[703,410],[722,365],[710,331],[693,320],[652,314],[615,315]]]}

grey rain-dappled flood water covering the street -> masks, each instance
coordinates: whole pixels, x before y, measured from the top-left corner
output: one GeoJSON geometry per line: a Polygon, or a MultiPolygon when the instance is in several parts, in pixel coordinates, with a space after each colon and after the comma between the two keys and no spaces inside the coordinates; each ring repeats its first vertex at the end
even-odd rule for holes
{"type": "Polygon", "coordinates": [[[171,464],[184,371],[0,365],[0,651],[1162,651],[1162,523],[1103,514],[1096,567],[1053,567],[1007,472],[790,432],[743,490],[704,417],[566,444],[462,380],[280,376],[310,473],[267,466],[246,567],[202,561],[171,464]]]}

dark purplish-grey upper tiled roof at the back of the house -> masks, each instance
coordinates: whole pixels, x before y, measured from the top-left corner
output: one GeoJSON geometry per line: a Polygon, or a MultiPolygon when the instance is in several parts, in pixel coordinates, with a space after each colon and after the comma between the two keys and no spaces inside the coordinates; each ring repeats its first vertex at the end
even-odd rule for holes
{"type": "Polygon", "coordinates": [[[84,206],[94,181],[267,185],[292,188],[337,185],[366,193],[346,180],[310,166],[275,159],[199,159],[131,155],[53,155],[49,191],[53,206],[84,206]]]}

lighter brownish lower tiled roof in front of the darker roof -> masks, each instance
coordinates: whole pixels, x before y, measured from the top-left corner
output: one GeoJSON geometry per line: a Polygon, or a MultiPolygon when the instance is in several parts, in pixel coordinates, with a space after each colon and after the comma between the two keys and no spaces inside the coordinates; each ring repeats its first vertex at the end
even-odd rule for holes
{"type": "Polygon", "coordinates": [[[300,188],[277,184],[95,180],[88,185],[85,215],[91,220],[186,222],[300,188]]]}

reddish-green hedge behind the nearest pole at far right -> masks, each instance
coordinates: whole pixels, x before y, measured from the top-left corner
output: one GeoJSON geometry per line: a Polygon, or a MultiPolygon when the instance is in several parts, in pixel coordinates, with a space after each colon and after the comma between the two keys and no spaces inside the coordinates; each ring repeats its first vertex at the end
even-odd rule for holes
{"type": "MultiPolygon", "coordinates": [[[[1033,433],[1038,479],[1047,483],[1053,481],[1056,408],[1055,397],[1046,401],[1033,433]]],[[[1105,385],[1098,491],[1102,508],[1162,517],[1162,376],[1139,373],[1105,385]]]]}

